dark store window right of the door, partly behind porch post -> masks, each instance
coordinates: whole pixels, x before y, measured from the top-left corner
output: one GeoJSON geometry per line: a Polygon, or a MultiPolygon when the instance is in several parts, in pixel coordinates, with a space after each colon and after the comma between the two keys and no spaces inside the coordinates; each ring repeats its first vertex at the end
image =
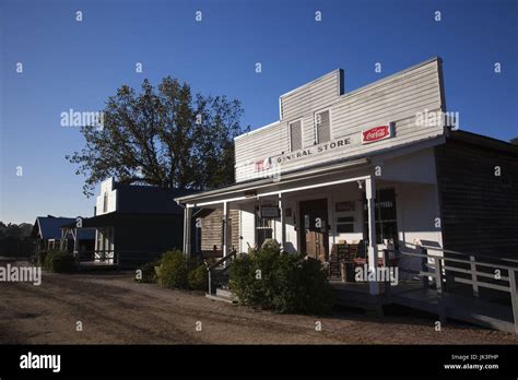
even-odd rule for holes
{"type": "MultiPolygon", "coordinates": [[[[385,239],[392,239],[398,244],[398,215],[396,212],[396,190],[380,189],[375,200],[376,240],[378,244],[385,239]]],[[[368,210],[364,197],[364,239],[368,239],[368,210]]]]}

